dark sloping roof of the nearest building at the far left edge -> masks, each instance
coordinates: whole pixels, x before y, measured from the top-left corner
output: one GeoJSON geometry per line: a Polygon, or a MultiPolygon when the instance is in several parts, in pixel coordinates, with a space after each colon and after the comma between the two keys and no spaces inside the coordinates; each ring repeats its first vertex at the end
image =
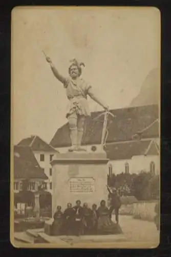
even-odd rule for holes
{"type": "Polygon", "coordinates": [[[29,146],[14,146],[14,178],[48,179],[29,146]]]}

